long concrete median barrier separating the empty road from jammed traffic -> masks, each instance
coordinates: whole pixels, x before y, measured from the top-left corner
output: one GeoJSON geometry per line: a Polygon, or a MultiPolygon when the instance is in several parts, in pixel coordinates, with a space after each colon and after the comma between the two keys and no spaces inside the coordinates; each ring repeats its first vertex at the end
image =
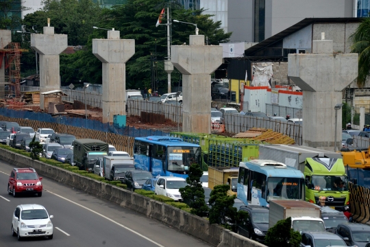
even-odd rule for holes
{"type": "Polygon", "coordinates": [[[225,228],[217,224],[210,224],[208,220],[202,217],[192,215],[169,204],[108,183],[81,176],[60,167],[48,165],[41,161],[34,161],[32,158],[3,148],[0,148],[0,150],[0,159],[11,165],[16,165],[17,167],[33,167],[40,176],[51,178],[58,181],[58,183],[69,185],[93,196],[119,204],[121,207],[147,215],[147,217],[151,217],[179,231],[197,237],[212,246],[264,246],[246,237],[225,230],[225,228]]]}

